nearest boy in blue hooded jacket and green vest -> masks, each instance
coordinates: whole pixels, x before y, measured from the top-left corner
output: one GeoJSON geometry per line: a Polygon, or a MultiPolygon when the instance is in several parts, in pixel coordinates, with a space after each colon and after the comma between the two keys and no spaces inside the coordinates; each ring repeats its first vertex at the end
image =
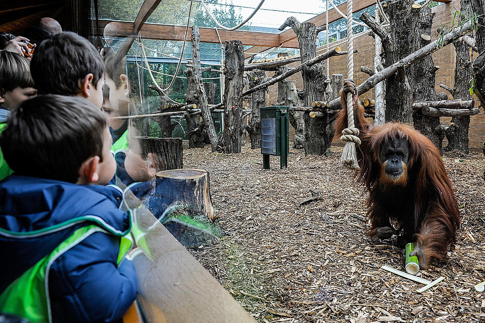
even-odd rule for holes
{"type": "Polygon", "coordinates": [[[40,96],[11,112],[0,147],[0,312],[31,322],[113,322],[135,299],[123,260],[130,217],[106,117],[89,101],[40,96]],[[100,184],[100,185],[92,185],[100,184]]]}

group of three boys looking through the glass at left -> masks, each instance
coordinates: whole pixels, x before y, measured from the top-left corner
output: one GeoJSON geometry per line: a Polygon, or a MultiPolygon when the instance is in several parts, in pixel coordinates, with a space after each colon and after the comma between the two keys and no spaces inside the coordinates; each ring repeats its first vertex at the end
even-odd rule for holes
{"type": "Polygon", "coordinates": [[[132,221],[111,184],[153,174],[126,151],[126,119],[107,118],[129,114],[123,59],[71,32],[30,62],[0,51],[0,313],[116,322],[135,299],[132,221]]]}

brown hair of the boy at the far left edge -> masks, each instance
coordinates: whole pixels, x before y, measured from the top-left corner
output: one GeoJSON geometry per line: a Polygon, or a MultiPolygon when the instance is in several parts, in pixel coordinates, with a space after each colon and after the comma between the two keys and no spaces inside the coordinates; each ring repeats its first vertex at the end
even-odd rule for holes
{"type": "Polygon", "coordinates": [[[0,91],[10,92],[15,88],[35,88],[30,75],[29,61],[17,54],[0,52],[0,91]]]}

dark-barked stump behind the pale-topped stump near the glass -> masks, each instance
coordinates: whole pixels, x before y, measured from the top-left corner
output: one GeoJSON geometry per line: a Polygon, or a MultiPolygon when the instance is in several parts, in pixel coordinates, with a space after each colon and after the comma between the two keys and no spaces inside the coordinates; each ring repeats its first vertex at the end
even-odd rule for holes
{"type": "Polygon", "coordinates": [[[184,166],[182,138],[135,137],[140,142],[141,156],[151,153],[157,170],[177,169],[184,166]]]}

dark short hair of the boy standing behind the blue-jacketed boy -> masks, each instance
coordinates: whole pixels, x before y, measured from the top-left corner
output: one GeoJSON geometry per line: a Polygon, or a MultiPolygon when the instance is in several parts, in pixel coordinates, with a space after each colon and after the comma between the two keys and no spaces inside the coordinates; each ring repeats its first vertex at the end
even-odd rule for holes
{"type": "Polygon", "coordinates": [[[86,38],[72,32],[50,36],[37,46],[30,63],[39,94],[78,95],[79,81],[93,74],[93,85],[103,77],[101,55],[86,38]]]}

